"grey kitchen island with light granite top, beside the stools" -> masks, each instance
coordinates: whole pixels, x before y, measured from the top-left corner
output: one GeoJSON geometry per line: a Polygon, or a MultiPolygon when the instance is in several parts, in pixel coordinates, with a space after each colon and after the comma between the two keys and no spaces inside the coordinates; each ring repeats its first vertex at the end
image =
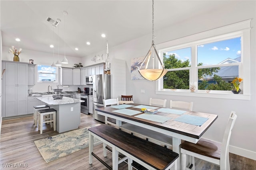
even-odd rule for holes
{"type": "Polygon", "coordinates": [[[80,103],[84,100],[63,97],[55,100],[52,96],[36,98],[50,108],[56,109],[56,130],[58,133],[77,129],[80,125],[80,103]]]}

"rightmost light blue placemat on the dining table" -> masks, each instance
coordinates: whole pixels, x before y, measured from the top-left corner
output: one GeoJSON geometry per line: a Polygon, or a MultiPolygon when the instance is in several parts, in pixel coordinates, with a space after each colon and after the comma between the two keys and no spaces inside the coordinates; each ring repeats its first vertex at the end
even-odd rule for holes
{"type": "Polygon", "coordinates": [[[209,118],[207,118],[207,117],[199,117],[199,116],[194,116],[194,115],[181,115],[180,117],[177,117],[173,120],[180,121],[180,122],[183,122],[183,123],[188,123],[188,124],[191,124],[191,125],[201,126],[208,119],[209,118]]]}

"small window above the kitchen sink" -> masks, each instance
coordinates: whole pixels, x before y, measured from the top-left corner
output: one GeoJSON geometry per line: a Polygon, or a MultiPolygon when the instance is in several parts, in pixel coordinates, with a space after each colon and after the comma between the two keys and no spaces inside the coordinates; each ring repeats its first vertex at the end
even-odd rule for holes
{"type": "Polygon", "coordinates": [[[37,65],[38,82],[57,82],[57,67],[37,65]]]}

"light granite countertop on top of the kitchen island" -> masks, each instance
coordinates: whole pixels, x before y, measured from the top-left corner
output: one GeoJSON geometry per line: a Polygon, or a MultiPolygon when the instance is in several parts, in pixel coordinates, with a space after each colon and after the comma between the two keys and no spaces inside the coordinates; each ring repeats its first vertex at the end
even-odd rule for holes
{"type": "Polygon", "coordinates": [[[85,102],[84,100],[68,98],[68,97],[65,97],[65,96],[62,99],[59,99],[59,100],[55,100],[54,98],[52,98],[52,96],[38,97],[37,99],[41,100],[42,102],[44,102],[48,105],[61,105],[61,104],[72,104],[72,103],[85,102]]]}

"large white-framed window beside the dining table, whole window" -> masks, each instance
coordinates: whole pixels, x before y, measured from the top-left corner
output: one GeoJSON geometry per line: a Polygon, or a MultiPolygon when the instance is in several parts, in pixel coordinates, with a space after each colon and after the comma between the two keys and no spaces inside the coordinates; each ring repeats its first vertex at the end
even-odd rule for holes
{"type": "Polygon", "coordinates": [[[157,47],[168,72],[156,82],[156,94],[232,98],[231,82],[240,77],[244,79],[240,85],[242,99],[250,98],[250,70],[246,68],[250,66],[250,20],[157,47]],[[196,93],[188,94],[194,92],[192,85],[196,93]]]}

